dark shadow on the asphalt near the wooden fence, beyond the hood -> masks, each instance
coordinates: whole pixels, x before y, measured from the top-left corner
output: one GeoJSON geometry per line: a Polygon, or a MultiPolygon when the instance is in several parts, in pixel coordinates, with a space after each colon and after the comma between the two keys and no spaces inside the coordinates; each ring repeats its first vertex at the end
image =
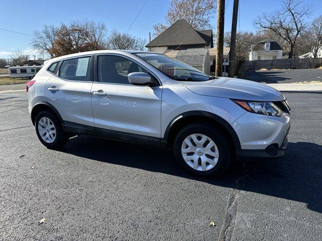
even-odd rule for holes
{"type": "Polygon", "coordinates": [[[279,74],[285,74],[285,72],[280,71],[254,71],[249,70],[244,72],[246,79],[252,80],[255,82],[265,82],[267,84],[274,83],[292,83],[292,81],[287,81],[291,78],[281,77],[279,74]]]}

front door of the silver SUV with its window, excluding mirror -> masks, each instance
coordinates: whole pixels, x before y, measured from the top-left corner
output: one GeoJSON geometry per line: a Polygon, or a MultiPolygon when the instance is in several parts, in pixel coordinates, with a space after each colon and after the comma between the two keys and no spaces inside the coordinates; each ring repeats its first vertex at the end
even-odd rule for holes
{"type": "Polygon", "coordinates": [[[123,140],[127,140],[124,136],[160,138],[162,86],[130,84],[129,73],[147,71],[128,57],[99,55],[97,58],[98,82],[92,87],[96,134],[112,138],[120,135],[123,140]]]}

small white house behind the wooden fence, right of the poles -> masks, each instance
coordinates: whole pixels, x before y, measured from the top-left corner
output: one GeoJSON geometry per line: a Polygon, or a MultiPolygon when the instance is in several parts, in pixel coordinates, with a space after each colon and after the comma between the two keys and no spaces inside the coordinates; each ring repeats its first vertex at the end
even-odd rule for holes
{"type": "Polygon", "coordinates": [[[265,39],[250,52],[250,60],[282,59],[283,48],[274,40],[265,39]]]}

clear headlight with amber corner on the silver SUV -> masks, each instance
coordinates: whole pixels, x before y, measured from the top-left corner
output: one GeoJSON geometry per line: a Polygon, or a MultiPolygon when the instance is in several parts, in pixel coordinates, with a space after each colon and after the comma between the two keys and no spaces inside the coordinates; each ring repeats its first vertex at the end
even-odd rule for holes
{"type": "Polygon", "coordinates": [[[273,102],[260,102],[238,99],[232,99],[232,101],[238,104],[243,109],[257,114],[281,116],[283,113],[283,111],[279,107],[277,107],[273,102]]]}

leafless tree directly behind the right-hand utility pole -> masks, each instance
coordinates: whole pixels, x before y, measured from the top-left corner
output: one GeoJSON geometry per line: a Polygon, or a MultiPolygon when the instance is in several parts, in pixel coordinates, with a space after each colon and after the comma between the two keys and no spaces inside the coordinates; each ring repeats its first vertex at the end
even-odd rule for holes
{"type": "MultiPolygon", "coordinates": [[[[261,38],[262,36],[252,32],[237,32],[235,50],[236,58],[239,60],[248,59],[252,46],[258,43],[261,38]]],[[[230,47],[230,32],[226,32],[224,35],[224,46],[230,47]]]]}

